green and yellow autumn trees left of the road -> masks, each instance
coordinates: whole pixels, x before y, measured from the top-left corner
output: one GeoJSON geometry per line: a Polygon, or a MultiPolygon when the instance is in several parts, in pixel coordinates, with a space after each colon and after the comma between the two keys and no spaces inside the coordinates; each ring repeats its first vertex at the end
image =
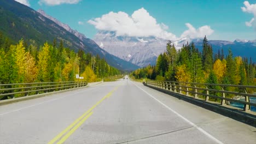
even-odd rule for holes
{"type": "Polygon", "coordinates": [[[57,43],[54,39],[53,44],[46,42],[37,46],[34,40],[28,45],[21,39],[14,45],[0,34],[1,84],[78,81],[75,74],[83,76],[83,81],[93,82],[119,75],[120,71],[98,55],[63,47],[62,40],[57,43]]]}

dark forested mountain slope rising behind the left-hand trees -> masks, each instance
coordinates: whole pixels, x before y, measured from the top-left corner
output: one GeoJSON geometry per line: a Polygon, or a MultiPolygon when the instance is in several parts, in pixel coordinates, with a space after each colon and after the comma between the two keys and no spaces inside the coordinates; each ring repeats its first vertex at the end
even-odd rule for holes
{"type": "Polygon", "coordinates": [[[23,38],[35,40],[37,44],[42,45],[45,41],[53,41],[56,38],[63,40],[64,45],[74,51],[83,49],[92,55],[99,55],[118,69],[134,70],[138,68],[135,64],[110,55],[93,40],[86,38],[85,35],[79,37],[81,35],[72,33],[77,31],[69,32],[37,11],[14,0],[0,1],[0,15],[0,32],[15,42],[23,38]]]}

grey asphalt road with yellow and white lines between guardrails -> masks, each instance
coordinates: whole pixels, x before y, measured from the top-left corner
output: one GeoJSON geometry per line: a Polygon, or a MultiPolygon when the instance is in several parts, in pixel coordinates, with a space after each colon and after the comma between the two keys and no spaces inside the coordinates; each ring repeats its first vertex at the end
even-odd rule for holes
{"type": "Polygon", "coordinates": [[[129,79],[0,106],[0,143],[256,143],[256,128],[129,79]]]}

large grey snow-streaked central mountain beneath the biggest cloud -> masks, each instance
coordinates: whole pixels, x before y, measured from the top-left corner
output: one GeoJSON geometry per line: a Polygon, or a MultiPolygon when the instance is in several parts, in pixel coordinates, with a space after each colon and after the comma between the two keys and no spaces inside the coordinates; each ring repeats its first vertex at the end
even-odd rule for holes
{"type": "Polygon", "coordinates": [[[114,32],[109,31],[98,32],[94,41],[112,55],[140,67],[154,65],[156,58],[166,49],[167,42],[155,37],[116,37],[114,32]]]}

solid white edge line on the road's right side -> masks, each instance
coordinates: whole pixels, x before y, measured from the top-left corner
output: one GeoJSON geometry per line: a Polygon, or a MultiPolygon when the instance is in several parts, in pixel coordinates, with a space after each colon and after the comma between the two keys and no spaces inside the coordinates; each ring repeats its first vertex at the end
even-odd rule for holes
{"type": "MultiPolygon", "coordinates": [[[[137,86],[135,83],[132,82],[133,85],[137,86]]],[[[196,124],[194,124],[193,122],[190,122],[187,118],[183,117],[182,115],[180,115],[178,112],[172,110],[170,107],[168,107],[167,105],[165,105],[164,103],[162,103],[160,100],[156,99],[153,95],[149,94],[148,92],[146,92],[144,89],[142,89],[141,87],[137,86],[139,89],[141,89],[143,92],[145,92],[146,94],[148,94],[151,98],[153,98],[154,100],[158,101],[158,103],[160,103],[161,105],[165,106],[168,110],[172,111],[173,113],[175,113],[177,116],[181,117],[182,119],[184,119],[184,121],[188,122],[190,125],[192,125],[193,127],[195,127],[197,130],[201,131],[201,133],[205,134],[206,136],[208,136],[210,139],[212,139],[213,141],[219,143],[219,144],[223,144],[223,142],[219,141],[218,139],[216,139],[214,136],[212,136],[211,134],[207,133],[205,130],[203,130],[202,128],[198,127],[196,124]]]]}

